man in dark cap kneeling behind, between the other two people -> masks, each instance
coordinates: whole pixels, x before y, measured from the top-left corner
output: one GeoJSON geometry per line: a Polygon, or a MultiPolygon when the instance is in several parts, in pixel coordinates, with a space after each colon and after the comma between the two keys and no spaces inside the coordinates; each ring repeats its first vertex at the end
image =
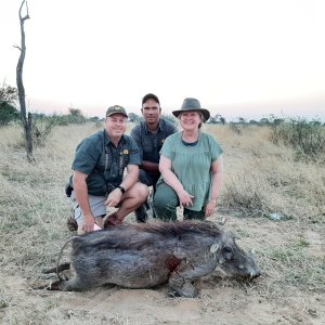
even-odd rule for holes
{"type": "MultiPolygon", "coordinates": [[[[160,117],[161,107],[159,99],[148,93],[142,99],[141,108],[144,121],[131,130],[131,136],[135,140],[140,150],[139,181],[147,186],[156,185],[159,172],[159,152],[166,138],[178,130],[176,126],[160,117]]],[[[146,221],[146,213],[143,207],[135,210],[139,222],[146,221]]]]}

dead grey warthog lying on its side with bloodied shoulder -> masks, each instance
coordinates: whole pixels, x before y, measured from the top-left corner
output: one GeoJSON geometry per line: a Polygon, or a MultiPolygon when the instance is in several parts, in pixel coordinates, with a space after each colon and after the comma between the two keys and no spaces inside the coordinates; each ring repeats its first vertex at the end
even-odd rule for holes
{"type": "Polygon", "coordinates": [[[67,263],[57,263],[60,280],[49,289],[84,290],[103,284],[150,288],[168,282],[170,295],[195,297],[192,282],[218,266],[229,276],[260,275],[252,256],[233,235],[208,221],[123,224],[73,237],[72,243],[75,276],[63,280],[58,272],[67,263]]]}

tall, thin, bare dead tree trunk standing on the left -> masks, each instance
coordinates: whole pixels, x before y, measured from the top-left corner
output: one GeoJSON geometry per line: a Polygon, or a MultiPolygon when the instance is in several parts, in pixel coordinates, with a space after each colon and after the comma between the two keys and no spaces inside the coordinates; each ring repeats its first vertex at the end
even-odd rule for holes
{"type": "Polygon", "coordinates": [[[26,20],[29,20],[28,5],[27,5],[27,1],[23,0],[22,4],[20,6],[20,23],[21,23],[22,42],[21,42],[21,47],[14,46],[15,48],[17,48],[21,51],[21,55],[18,58],[17,68],[16,68],[16,83],[17,83],[17,89],[18,89],[21,119],[23,121],[23,127],[24,127],[27,158],[29,161],[32,161],[34,156],[32,156],[32,138],[31,138],[31,114],[28,113],[28,116],[26,116],[25,88],[24,88],[24,83],[23,83],[23,67],[24,67],[24,61],[25,61],[25,55],[26,55],[24,23],[26,20]],[[26,15],[23,17],[22,9],[25,3],[26,3],[26,15]]]}

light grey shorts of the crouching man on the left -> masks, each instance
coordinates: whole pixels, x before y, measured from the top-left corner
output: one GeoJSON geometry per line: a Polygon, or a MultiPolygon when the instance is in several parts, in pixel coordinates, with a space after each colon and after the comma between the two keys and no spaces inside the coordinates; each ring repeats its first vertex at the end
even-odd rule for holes
{"type": "MultiPolygon", "coordinates": [[[[106,206],[105,206],[105,202],[107,199],[106,196],[88,195],[88,199],[89,199],[89,205],[90,205],[90,209],[91,209],[93,217],[101,217],[103,214],[106,214],[106,212],[107,212],[106,206]]],[[[74,209],[74,213],[75,213],[75,219],[76,219],[78,225],[81,225],[82,221],[83,221],[83,213],[79,207],[79,204],[77,203],[74,191],[72,193],[72,200],[73,200],[73,209],[74,209]]]]}

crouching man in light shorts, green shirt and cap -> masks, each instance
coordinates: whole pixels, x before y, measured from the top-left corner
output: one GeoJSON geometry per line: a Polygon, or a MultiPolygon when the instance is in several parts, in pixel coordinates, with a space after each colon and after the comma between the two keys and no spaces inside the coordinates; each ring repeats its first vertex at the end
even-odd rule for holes
{"type": "Polygon", "coordinates": [[[147,186],[138,182],[139,148],[132,138],[123,134],[127,119],[123,107],[109,107],[105,129],[77,146],[69,185],[78,234],[122,223],[147,198],[147,186]],[[104,220],[106,207],[118,210],[104,220]]]}

